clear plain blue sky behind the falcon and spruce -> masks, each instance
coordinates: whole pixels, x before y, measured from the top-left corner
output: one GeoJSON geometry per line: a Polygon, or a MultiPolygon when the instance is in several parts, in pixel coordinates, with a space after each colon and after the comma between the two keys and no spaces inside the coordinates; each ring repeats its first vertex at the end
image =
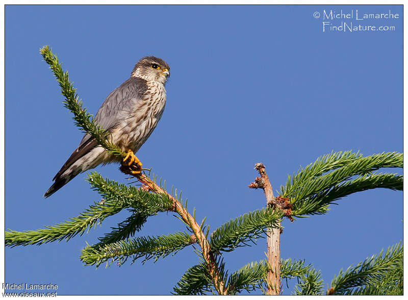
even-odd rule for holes
{"type": "MultiPolygon", "coordinates": [[[[212,230],[265,206],[263,192],[248,189],[257,162],[276,191],[332,150],[402,152],[402,6],[7,6],[5,16],[6,229],[44,228],[100,200],[85,173],[42,197],[82,137],[39,54],[47,44],[91,113],[141,57],[169,63],[165,112],[137,156],[183,190],[212,230]],[[394,31],[323,32],[323,10],[341,9],[399,18],[330,20],[394,31]]],[[[127,182],[117,165],[96,171],[127,182]]],[[[341,268],[402,239],[402,192],[365,191],[338,204],[283,222],[282,258],[313,263],[325,287],[341,268]]],[[[6,282],[57,284],[58,294],[169,294],[198,263],[191,247],[155,264],[95,269],[79,260],[86,242],[128,214],[68,243],[6,248],[6,282]]],[[[184,229],[161,213],[138,235],[184,229]]],[[[264,259],[265,245],[225,254],[226,267],[264,259]]]]}

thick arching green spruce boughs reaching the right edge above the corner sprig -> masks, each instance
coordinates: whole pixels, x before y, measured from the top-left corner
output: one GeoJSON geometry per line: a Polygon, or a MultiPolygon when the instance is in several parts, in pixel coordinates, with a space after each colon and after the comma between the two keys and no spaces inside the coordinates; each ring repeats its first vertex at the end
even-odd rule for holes
{"type": "Polygon", "coordinates": [[[373,173],[402,164],[402,153],[367,157],[352,152],[331,153],[289,176],[286,186],[281,186],[281,196],[290,199],[292,216],[324,214],[330,203],[354,192],[378,187],[402,190],[402,176],[373,173]]]}

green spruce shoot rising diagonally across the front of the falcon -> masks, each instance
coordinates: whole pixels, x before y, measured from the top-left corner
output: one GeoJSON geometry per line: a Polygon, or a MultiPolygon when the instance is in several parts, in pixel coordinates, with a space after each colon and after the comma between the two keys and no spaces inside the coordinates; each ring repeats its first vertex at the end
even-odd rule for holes
{"type": "Polygon", "coordinates": [[[110,134],[95,124],[93,118],[91,118],[92,115],[82,107],[82,101],[79,99],[78,94],[75,93],[77,89],[73,88],[72,83],[69,81],[68,71],[63,71],[61,64],[58,62],[58,58],[53,54],[52,49],[46,45],[40,49],[40,53],[44,58],[44,61],[49,65],[49,68],[53,71],[54,76],[61,87],[61,93],[65,97],[63,104],[73,113],[75,125],[84,133],[91,135],[92,138],[94,138],[95,141],[103,146],[109,153],[125,157],[126,154],[122,149],[110,142],[110,134]]]}

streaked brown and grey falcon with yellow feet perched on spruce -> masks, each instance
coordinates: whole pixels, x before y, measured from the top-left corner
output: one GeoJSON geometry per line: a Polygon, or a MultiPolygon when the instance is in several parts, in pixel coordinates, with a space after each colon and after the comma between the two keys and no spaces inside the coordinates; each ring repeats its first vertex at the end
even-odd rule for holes
{"type": "Polygon", "coordinates": [[[127,153],[122,160],[105,151],[85,134],[79,146],[68,158],[56,176],[54,184],[45,192],[49,197],[81,172],[99,164],[121,161],[130,166],[141,163],[134,155],[156,128],[166,104],[164,85],[170,76],[170,67],[162,59],[146,56],[135,65],[131,78],[111,92],[101,105],[94,120],[112,135],[112,142],[127,153]]]}

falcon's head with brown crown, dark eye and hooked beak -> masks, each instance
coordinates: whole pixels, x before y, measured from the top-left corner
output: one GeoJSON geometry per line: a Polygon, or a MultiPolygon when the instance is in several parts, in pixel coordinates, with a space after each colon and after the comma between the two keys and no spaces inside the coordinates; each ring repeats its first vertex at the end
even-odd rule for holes
{"type": "Polygon", "coordinates": [[[161,58],[146,56],[137,62],[132,71],[132,77],[165,84],[170,77],[170,67],[161,58]]]}

